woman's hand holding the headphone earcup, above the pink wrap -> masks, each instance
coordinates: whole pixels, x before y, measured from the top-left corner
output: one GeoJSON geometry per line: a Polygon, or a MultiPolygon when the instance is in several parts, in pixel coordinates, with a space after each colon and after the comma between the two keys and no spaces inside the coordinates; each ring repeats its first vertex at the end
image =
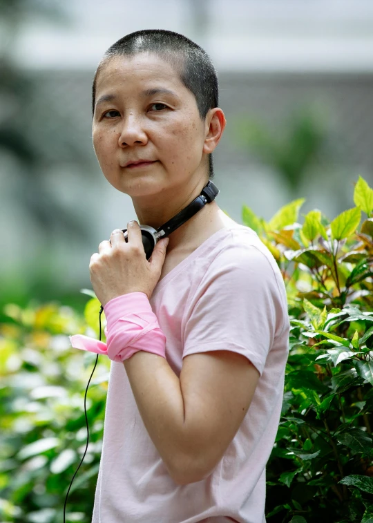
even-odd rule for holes
{"type": "Polygon", "coordinates": [[[104,307],[108,301],[129,292],[144,292],[148,298],[162,272],[169,238],[155,245],[150,260],[146,260],[140,225],[127,225],[128,243],[120,229],[111,233],[110,242],[99,244],[99,252],[90,258],[89,272],[93,290],[104,307]]]}

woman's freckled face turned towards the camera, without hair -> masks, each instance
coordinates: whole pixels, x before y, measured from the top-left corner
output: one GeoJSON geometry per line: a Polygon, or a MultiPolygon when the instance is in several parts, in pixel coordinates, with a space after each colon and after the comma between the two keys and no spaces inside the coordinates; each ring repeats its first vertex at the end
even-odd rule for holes
{"type": "Polygon", "coordinates": [[[93,146],[108,182],[133,198],[207,180],[208,120],[156,55],[113,57],[98,75],[93,146]]]}

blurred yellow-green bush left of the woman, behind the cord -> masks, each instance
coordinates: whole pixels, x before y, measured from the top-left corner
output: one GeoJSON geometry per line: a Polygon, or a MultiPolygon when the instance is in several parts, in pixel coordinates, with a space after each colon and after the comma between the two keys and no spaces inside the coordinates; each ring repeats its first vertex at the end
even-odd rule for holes
{"type": "MultiPolygon", "coordinates": [[[[85,318],[57,303],[7,305],[0,335],[0,515],[3,522],[62,521],[66,490],[86,448],[83,396],[95,355],[69,334],[97,336],[97,300],[85,318]]],[[[67,521],[92,515],[109,360],[99,359],[87,397],[90,444],[71,488],[67,521]]]]}

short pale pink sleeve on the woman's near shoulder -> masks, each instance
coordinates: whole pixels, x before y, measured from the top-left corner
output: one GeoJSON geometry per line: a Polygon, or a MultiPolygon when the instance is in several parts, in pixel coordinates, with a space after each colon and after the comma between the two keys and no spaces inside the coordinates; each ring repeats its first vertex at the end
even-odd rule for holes
{"type": "Polygon", "coordinates": [[[213,260],[191,300],[182,357],[231,350],[246,356],[261,375],[283,323],[282,309],[267,255],[251,245],[227,247],[213,260]]]}

